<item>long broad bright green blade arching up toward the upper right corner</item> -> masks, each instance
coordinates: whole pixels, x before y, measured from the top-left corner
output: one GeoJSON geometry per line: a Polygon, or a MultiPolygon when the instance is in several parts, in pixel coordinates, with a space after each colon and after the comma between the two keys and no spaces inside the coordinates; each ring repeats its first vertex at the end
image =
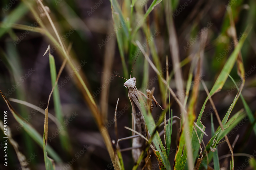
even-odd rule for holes
{"type": "MultiPolygon", "coordinates": [[[[224,83],[226,82],[227,80],[227,77],[228,77],[228,74],[230,73],[230,71],[232,70],[233,66],[234,66],[234,63],[236,62],[237,60],[237,57],[238,57],[238,54],[242,48],[242,45],[245,41],[245,39],[247,38],[247,35],[248,33],[250,32],[251,30],[251,27],[247,27],[246,31],[244,32],[245,36],[242,37],[238,43],[238,45],[236,46],[236,48],[234,49],[234,51],[232,52],[232,54],[230,55],[230,57],[228,58],[226,64],[224,65],[220,75],[218,76],[214,86],[212,87],[209,95],[212,96],[214,95],[215,93],[217,93],[218,91],[220,91],[224,85],[224,83]]],[[[197,119],[197,125],[200,127],[200,128],[203,128],[204,125],[201,123],[201,117],[202,117],[202,113],[204,112],[204,109],[205,109],[205,105],[206,105],[206,102],[208,101],[208,97],[206,98],[203,106],[202,106],[202,109],[199,113],[199,116],[198,116],[198,119],[197,119]]],[[[197,134],[198,136],[200,137],[200,140],[202,139],[202,132],[196,127],[197,129],[197,134]]],[[[195,141],[195,140],[198,140],[197,139],[197,135],[195,132],[193,132],[192,134],[192,140],[195,141]]],[[[195,160],[197,158],[197,154],[198,154],[198,150],[199,150],[199,143],[198,142],[193,142],[192,143],[192,150],[193,150],[193,159],[195,160]]]]}

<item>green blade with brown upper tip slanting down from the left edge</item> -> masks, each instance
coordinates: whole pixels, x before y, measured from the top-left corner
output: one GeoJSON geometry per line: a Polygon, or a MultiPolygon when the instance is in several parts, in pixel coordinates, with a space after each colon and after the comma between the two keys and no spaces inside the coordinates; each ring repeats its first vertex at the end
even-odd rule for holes
{"type": "MultiPolygon", "coordinates": [[[[26,120],[21,117],[18,113],[16,113],[16,111],[13,109],[13,107],[10,105],[9,101],[6,99],[6,97],[4,96],[4,94],[2,93],[2,91],[0,90],[0,93],[2,95],[2,97],[5,100],[5,103],[7,104],[9,110],[11,111],[11,113],[13,114],[15,120],[20,123],[23,124],[23,128],[24,130],[28,133],[28,135],[35,140],[35,142],[41,147],[43,148],[43,138],[42,136],[36,131],[36,129],[31,126],[28,122],[26,122],[26,120]],[[26,122],[24,124],[24,122],[26,122]]],[[[47,152],[49,153],[49,155],[56,161],[56,162],[62,162],[61,158],[59,157],[59,155],[50,147],[48,146],[47,148],[47,152]]]]}

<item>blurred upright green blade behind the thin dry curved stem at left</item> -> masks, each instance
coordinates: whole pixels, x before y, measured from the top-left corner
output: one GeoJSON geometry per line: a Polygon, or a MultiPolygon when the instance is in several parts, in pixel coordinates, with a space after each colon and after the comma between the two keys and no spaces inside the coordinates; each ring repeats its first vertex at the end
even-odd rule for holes
{"type": "MultiPolygon", "coordinates": [[[[55,81],[57,78],[57,73],[56,73],[54,57],[50,53],[49,53],[49,63],[50,63],[50,73],[51,73],[51,85],[52,85],[52,87],[54,87],[55,81]]],[[[56,87],[58,87],[58,84],[56,87]]],[[[59,89],[54,88],[52,95],[53,95],[53,100],[54,100],[54,110],[55,110],[56,117],[59,120],[59,122],[61,123],[61,126],[63,127],[63,130],[61,130],[61,132],[60,132],[60,143],[61,143],[62,148],[65,148],[65,150],[70,151],[71,145],[70,145],[70,141],[68,138],[66,126],[64,125],[59,89]]]]}

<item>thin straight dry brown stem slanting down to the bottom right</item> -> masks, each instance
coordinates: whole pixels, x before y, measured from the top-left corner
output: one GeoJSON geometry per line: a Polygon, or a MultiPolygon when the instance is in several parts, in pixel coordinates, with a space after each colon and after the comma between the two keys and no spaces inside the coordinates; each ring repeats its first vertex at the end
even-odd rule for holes
{"type": "MultiPolygon", "coordinates": [[[[221,130],[224,130],[223,125],[222,125],[222,122],[221,122],[221,120],[220,120],[220,116],[219,116],[218,111],[217,111],[217,109],[216,109],[216,107],[215,107],[215,104],[214,104],[214,102],[213,102],[213,100],[212,100],[212,98],[211,98],[211,96],[210,96],[210,94],[209,94],[209,91],[208,91],[208,89],[207,89],[207,87],[206,87],[206,85],[205,85],[205,82],[204,82],[203,80],[201,80],[201,82],[202,82],[202,85],[204,86],[204,89],[205,89],[205,91],[206,91],[206,93],[207,93],[207,96],[208,96],[208,98],[209,98],[209,100],[210,100],[210,103],[211,103],[211,105],[212,105],[212,108],[213,108],[213,110],[214,110],[214,112],[215,112],[215,114],[216,114],[217,120],[218,120],[218,122],[219,122],[219,124],[220,124],[220,128],[221,128],[221,130]]],[[[233,163],[232,170],[234,170],[234,162],[232,161],[232,160],[234,160],[234,153],[233,153],[233,149],[232,149],[232,147],[231,147],[231,145],[230,145],[230,142],[229,142],[229,140],[228,140],[227,135],[225,135],[225,140],[227,141],[229,150],[230,150],[231,155],[232,155],[232,156],[231,156],[231,162],[233,163]]]]}

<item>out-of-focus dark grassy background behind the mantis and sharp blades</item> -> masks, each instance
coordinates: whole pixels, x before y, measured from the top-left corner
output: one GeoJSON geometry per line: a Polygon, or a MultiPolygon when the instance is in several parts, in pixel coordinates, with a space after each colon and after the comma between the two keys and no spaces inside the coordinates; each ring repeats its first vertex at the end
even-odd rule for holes
{"type": "MultiPolygon", "coordinates": [[[[26,130],[25,124],[29,123],[41,138],[43,137],[45,115],[39,110],[43,109],[44,113],[47,108],[49,94],[55,85],[63,61],[66,62],[65,58],[66,67],[49,102],[48,111],[51,114],[48,114],[47,146],[53,149],[48,151],[48,156],[57,162],[56,169],[68,169],[72,164],[73,169],[109,170],[114,169],[110,147],[115,150],[115,145],[111,142],[113,140],[116,142],[114,112],[118,98],[118,138],[132,134],[124,128],[124,126],[131,127],[132,122],[131,103],[127,89],[123,86],[126,80],[109,74],[129,79],[138,55],[132,71],[132,77],[136,77],[136,87],[144,93],[146,89],[155,87],[154,96],[158,103],[166,108],[169,106],[166,103],[169,93],[166,85],[160,81],[160,77],[166,77],[166,56],[169,69],[167,80],[177,97],[184,101],[186,91],[192,91],[194,84],[201,79],[210,91],[235,48],[234,34],[239,41],[245,36],[243,33],[248,27],[252,29],[241,48],[246,75],[241,94],[248,108],[245,108],[247,105],[239,98],[230,117],[242,108],[245,108],[247,114],[250,110],[251,114],[246,116],[241,124],[230,129],[228,138],[231,144],[235,141],[234,153],[256,155],[254,145],[256,2],[254,0],[44,0],[42,4],[46,8],[42,8],[39,1],[30,0],[2,0],[0,4],[0,88],[26,122],[18,121],[2,99],[0,120],[3,121],[4,110],[7,110],[8,130],[18,144],[18,150],[25,156],[24,167],[45,169],[43,143],[37,142],[36,133],[29,130],[30,126],[26,130]],[[231,13],[228,12],[228,7],[231,13]],[[44,9],[47,10],[52,23],[44,9]],[[232,22],[235,27],[232,27],[232,22]],[[63,47],[58,44],[58,36],[52,25],[55,25],[63,47]],[[157,69],[162,70],[162,75],[154,72],[142,52],[138,54],[139,43],[144,46],[145,53],[157,69]],[[44,56],[48,45],[51,55],[47,53],[44,56]],[[194,59],[200,55],[203,57],[200,58],[199,63],[194,63],[194,59]],[[194,79],[196,69],[193,68],[198,65],[201,71],[200,78],[194,79]],[[78,74],[81,75],[80,78],[78,74]],[[192,82],[190,76],[193,77],[192,82]],[[189,85],[187,85],[188,80],[191,83],[189,85]],[[182,84],[179,84],[179,81],[182,81],[182,84]],[[24,102],[17,103],[15,99],[35,106],[29,107],[29,104],[24,102]],[[60,128],[61,126],[63,129],[60,128]],[[34,138],[30,133],[32,136],[35,135],[34,138]]],[[[230,75],[237,86],[241,87],[242,79],[237,70],[235,64],[230,75]]],[[[228,77],[223,88],[212,96],[221,120],[236,94],[237,88],[228,77]]],[[[194,106],[195,122],[206,98],[207,93],[200,85],[194,106]]],[[[180,117],[180,106],[172,96],[169,103],[173,116],[180,117]]],[[[214,128],[217,129],[219,123],[210,102],[207,102],[201,118],[202,124],[206,126],[205,132],[208,134],[202,139],[206,145],[211,139],[210,113],[213,113],[214,128]]],[[[153,109],[152,115],[158,121],[161,109],[159,107],[153,109]]],[[[169,119],[169,114],[166,119],[169,119]]],[[[173,166],[179,141],[180,125],[179,120],[176,121],[172,128],[168,158],[170,167],[173,166]]],[[[163,127],[158,129],[159,132],[162,130],[163,127]]],[[[1,131],[0,134],[2,142],[3,132],[1,131]]],[[[164,136],[161,136],[161,139],[164,141],[164,136]]],[[[131,140],[122,141],[120,148],[131,147],[131,143],[131,140]]],[[[0,148],[3,153],[2,143],[0,148]]],[[[3,165],[1,156],[1,169],[21,169],[22,165],[15,149],[10,143],[8,144],[8,167],[3,165]]],[[[227,160],[221,157],[230,153],[227,143],[224,143],[217,152],[220,167],[229,168],[230,158],[227,160]]],[[[205,158],[204,153],[203,155],[205,158]]],[[[134,161],[131,151],[122,152],[122,157],[125,169],[132,169],[134,161]]],[[[208,162],[211,167],[214,167],[213,164],[212,160],[208,162]]],[[[158,169],[155,158],[152,158],[152,165],[152,169],[153,167],[158,169]]],[[[234,168],[239,167],[253,169],[255,165],[249,165],[246,156],[235,155],[234,168]]],[[[218,168],[214,167],[214,169],[218,168]]]]}

